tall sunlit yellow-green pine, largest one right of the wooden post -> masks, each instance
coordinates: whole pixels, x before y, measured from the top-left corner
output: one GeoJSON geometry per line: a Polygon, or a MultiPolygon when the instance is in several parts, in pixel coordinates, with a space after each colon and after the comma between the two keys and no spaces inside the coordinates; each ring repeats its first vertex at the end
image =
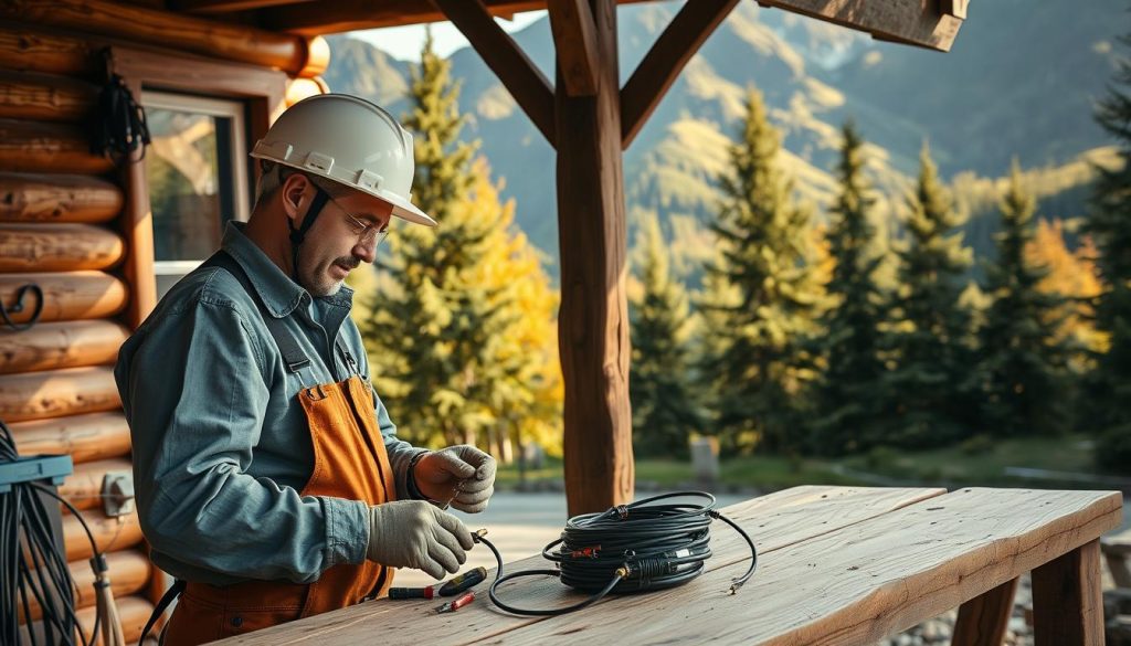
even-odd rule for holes
{"type": "Polygon", "coordinates": [[[751,91],[742,140],[719,178],[723,204],[711,230],[722,258],[707,267],[736,302],[702,304],[723,324],[715,330],[723,352],[708,360],[708,374],[714,427],[727,450],[795,450],[803,441],[798,393],[812,377],[805,347],[820,290],[808,265],[810,215],[794,204],[778,148],[761,95],[751,91]]]}

